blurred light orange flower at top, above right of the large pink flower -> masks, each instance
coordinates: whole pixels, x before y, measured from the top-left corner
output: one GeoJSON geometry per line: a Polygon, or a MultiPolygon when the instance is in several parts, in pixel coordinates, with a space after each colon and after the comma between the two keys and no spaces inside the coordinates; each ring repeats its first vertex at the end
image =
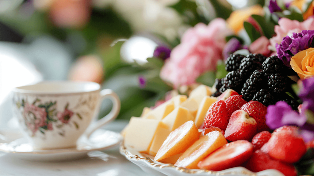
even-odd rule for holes
{"type": "Polygon", "coordinates": [[[253,14],[263,15],[263,8],[260,5],[255,5],[233,11],[227,19],[227,23],[229,27],[235,31],[235,33],[238,33],[241,29],[243,29],[244,21],[246,21],[253,14]]]}

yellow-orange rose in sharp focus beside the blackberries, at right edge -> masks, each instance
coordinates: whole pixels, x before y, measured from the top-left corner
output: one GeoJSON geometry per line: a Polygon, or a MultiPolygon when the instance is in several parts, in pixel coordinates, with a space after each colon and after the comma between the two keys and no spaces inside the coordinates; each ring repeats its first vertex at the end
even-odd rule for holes
{"type": "Polygon", "coordinates": [[[291,58],[290,65],[301,79],[314,75],[314,48],[298,52],[291,58]]]}

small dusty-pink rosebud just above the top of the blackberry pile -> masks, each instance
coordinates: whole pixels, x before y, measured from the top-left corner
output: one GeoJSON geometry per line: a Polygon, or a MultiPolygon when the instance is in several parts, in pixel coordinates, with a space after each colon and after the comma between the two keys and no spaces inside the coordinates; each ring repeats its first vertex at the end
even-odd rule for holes
{"type": "Polygon", "coordinates": [[[253,43],[251,43],[251,45],[249,46],[249,51],[251,53],[260,53],[264,56],[269,56],[270,51],[268,50],[268,45],[270,45],[268,38],[265,36],[261,36],[253,43]]]}

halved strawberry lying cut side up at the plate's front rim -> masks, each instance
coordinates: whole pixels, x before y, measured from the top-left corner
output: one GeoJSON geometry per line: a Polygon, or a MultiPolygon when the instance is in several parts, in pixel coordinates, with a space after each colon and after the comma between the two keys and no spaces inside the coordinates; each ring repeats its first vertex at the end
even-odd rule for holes
{"type": "Polygon", "coordinates": [[[253,154],[251,142],[239,140],[225,144],[198,163],[201,169],[221,171],[241,166],[253,154]]]}

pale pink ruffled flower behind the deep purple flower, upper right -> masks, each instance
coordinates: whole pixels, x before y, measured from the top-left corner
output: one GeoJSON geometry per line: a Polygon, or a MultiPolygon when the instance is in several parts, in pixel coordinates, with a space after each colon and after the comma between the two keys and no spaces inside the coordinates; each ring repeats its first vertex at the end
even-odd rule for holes
{"type": "Polygon", "coordinates": [[[314,18],[308,18],[303,22],[281,18],[278,24],[275,26],[277,35],[269,39],[271,45],[268,46],[268,49],[272,51],[276,51],[275,45],[276,43],[280,44],[283,37],[287,35],[292,36],[292,33],[300,33],[302,30],[314,30],[314,18]]]}

